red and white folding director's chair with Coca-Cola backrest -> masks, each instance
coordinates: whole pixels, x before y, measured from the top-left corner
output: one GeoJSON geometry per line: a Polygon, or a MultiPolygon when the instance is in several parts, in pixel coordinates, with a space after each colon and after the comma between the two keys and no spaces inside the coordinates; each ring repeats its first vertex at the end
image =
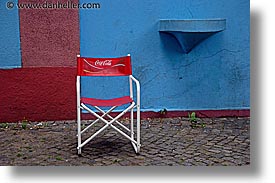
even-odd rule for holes
{"type": "Polygon", "coordinates": [[[77,55],[77,78],[76,78],[76,94],[77,94],[77,137],[78,137],[78,154],[81,154],[81,148],[95,138],[107,127],[112,127],[114,130],[129,139],[135,149],[136,153],[140,151],[140,84],[139,81],[132,76],[131,57],[128,54],[120,58],[87,58],[77,55]],[[114,99],[96,99],[96,98],[83,98],[80,96],[80,83],[81,76],[128,76],[130,92],[129,96],[124,96],[114,99]],[[136,85],[136,102],[133,97],[133,81],[136,85]],[[116,109],[118,106],[128,105],[116,117],[112,117],[109,113],[116,109]],[[92,106],[98,113],[91,109],[92,106]],[[105,111],[102,107],[110,107],[105,111]],[[134,133],[134,109],[136,108],[136,135],[134,133]],[[93,114],[97,119],[89,124],[83,130],[81,129],[81,110],[86,110],[93,114]],[[130,129],[121,124],[118,119],[122,117],[127,111],[131,111],[130,129]],[[99,115],[102,113],[102,115],[99,115]],[[107,118],[107,119],[106,119],[107,118]],[[81,135],[91,128],[95,123],[102,121],[105,125],[96,131],[93,135],[82,142],[81,135]],[[115,126],[119,125],[127,132],[115,126]],[[128,133],[128,134],[127,134],[128,133]],[[129,135],[130,133],[130,135],[129,135]],[[136,138],[135,138],[136,136],[136,138]]]}

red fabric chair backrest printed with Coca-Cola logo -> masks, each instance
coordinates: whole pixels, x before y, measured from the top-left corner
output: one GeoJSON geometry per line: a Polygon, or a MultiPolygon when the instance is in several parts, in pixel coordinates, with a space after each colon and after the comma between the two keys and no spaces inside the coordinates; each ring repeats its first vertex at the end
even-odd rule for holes
{"type": "Polygon", "coordinates": [[[77,57],[78,76],[129,76],[131,74],[130,56],[119,58],[77,57]]]}

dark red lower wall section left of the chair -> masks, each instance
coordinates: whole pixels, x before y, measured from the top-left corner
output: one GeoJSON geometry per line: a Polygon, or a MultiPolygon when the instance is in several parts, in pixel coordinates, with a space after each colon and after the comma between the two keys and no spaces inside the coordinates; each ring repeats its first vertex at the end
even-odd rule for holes
{"type": "Polygon", "coordinates": [[[75,68],[0,70],[0,122],[76,118],[75,68]]]}

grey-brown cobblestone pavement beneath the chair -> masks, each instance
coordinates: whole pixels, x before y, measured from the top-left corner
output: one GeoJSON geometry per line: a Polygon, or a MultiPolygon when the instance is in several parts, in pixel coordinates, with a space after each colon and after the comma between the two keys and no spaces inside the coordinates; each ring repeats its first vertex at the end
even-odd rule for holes
{"type": "MultiPolygon", "coordinates": [[[[88,123],[89,121],[85,121],[88,123]]],[[[127,123],[127,119],[124,120],[127,123]]],[[[250,118],[142,120],[141,152],[112,129],[76,151],[76,122],[0,124],[0,165],[243,166],[250,164],[250,118]]]]}

